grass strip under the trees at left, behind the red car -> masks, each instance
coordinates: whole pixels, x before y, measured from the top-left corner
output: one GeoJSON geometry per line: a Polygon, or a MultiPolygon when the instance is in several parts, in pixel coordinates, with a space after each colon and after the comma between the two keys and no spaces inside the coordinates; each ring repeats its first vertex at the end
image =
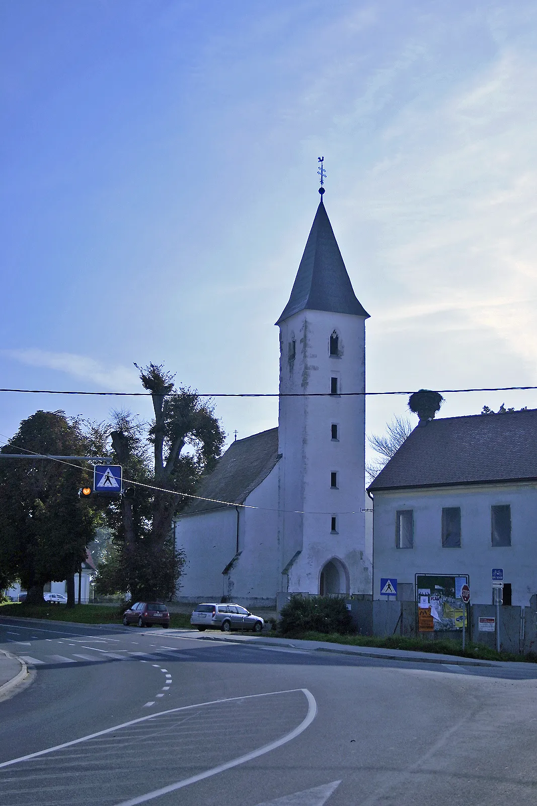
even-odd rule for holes
{"type": "MultiPolygon", "coordinates": [[[[72,621],[75,624],[121,624],[122,617],[118,607],[107,605],[0,605],[0,617],[43,618],[52,621],[72,621]]],[[[170,627],[190,627],[189,613],[170,613],[170,627]]]]}

